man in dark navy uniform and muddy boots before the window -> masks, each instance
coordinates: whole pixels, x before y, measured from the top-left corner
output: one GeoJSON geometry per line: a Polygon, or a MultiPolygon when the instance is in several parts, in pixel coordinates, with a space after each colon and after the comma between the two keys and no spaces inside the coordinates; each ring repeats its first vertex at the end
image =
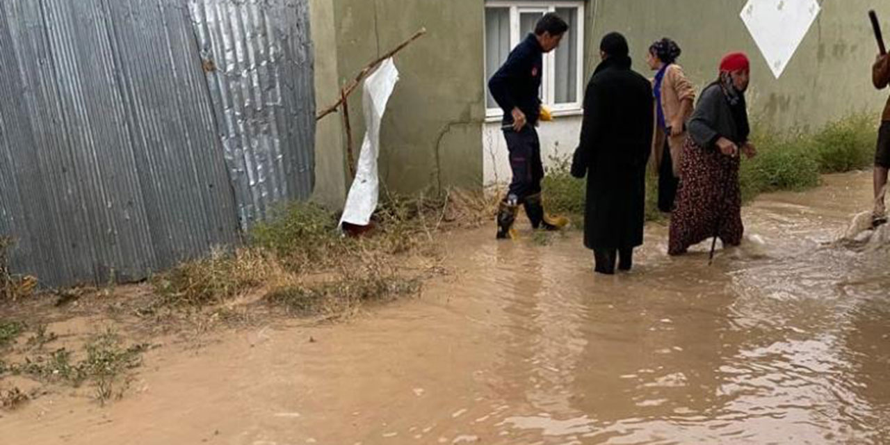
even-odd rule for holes
{"type": "Polygon", "coordinates": [[[569,25],[556,14],[545,14],[530,34],[516,45],[504,65],[489,81],[491,96],[504,109],[504,138],[510,152],[513,181],[498,208],[498,239],[510,238],[520,204],[525,206],[534,229],[558,229],[561,219],[551,218],[541,206],[541,147],[535,125],[540,116],[541,71],[544,53],[559,46],[569,25]]]}

